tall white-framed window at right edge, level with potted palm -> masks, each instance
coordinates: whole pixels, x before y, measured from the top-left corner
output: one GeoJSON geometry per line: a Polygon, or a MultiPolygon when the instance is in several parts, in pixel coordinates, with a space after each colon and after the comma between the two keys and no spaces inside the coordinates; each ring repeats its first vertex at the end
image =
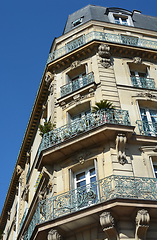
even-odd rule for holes
{"type": "Polygon", "coordinates": [[[157,110],[140,108],[140,112],[144,134],[157,136],[157,110]]]}

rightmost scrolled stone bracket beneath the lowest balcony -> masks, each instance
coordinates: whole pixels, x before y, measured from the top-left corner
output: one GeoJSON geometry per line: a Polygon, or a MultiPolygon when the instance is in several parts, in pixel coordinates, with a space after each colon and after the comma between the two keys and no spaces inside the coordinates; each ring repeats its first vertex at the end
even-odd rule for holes
{"type": "Polygon", "coordinates": [[[150,216],[147,210],[142,209],[137,212],[136,216],[136,240],[146,239],[147,229],[149,227],[150,216]]]}

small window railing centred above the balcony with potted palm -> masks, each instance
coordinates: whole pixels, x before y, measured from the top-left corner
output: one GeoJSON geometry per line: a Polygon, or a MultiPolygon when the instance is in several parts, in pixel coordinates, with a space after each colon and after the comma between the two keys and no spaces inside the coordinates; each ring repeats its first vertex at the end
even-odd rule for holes
{"type": "Polygon", "coordinates": [[[82,76],[64,86],[61,87],[61,97],[66,96],[69,93],[72,93],[82,87],[87,86],[90,83],[94,82],[94,74],[93,72],[82,76]]]}

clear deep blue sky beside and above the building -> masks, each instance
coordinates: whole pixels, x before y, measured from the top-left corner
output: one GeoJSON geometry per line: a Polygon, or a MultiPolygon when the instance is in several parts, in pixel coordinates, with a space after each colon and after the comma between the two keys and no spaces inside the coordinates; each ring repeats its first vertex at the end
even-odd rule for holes
{"type": "Polygon", "coordinates": [[[51,43],[62,34],[68,15],[88,4],[157,16],[155,0],[0,2],[0,212],[51,43]]]}

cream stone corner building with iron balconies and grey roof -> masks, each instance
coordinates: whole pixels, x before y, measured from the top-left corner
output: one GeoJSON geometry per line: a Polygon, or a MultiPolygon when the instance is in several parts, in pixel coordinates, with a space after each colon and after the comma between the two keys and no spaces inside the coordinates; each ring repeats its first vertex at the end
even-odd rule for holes
{"type": "Polygon", "coordinates": [[[156,239],[156,34],[157,18],[137,10],[69,15],[10,182],[3,240],[156,239]],[[92,111],[105,100],[114,108],[92,111]]]}

